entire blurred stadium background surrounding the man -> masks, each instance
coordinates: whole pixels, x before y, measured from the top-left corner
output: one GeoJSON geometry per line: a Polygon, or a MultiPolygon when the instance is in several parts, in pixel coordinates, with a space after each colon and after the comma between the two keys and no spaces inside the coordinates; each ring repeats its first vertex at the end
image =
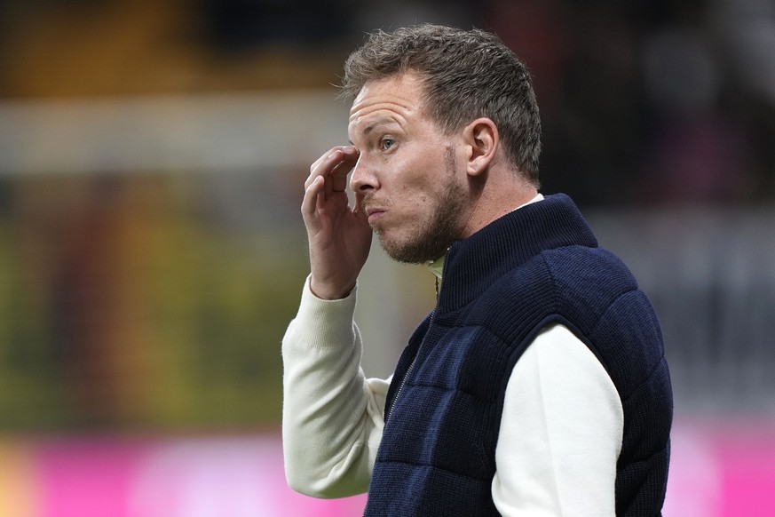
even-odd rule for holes
{"type": "MultiPolygon", "coordinates": [[[[494,30],[571,195],[652,298],[666,516],[775,514],[771,0],[0,0],[0,517],[358,515],[285,486],[309,164],[374,28],[494,30]]],[[[375,249],[364,368],[433,303],[375,249]]]]}

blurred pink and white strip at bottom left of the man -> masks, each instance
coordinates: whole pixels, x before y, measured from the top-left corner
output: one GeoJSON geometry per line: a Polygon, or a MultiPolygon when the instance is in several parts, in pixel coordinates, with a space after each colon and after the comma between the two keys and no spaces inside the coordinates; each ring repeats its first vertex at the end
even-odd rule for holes
{"type": "Polygon", "coordinates": [[[346,517],[365,505],[365,496],[320,500],[289,489],[277,435],[6,441],[2,449],[0,514],[13,517],[346,517]]]}

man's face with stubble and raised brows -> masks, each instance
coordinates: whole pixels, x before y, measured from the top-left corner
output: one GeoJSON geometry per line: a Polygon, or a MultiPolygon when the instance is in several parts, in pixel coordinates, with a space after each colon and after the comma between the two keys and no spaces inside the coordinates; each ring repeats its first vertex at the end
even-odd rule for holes
{"type": "Polygon", "coordinates": [[[439,259],[467,216],[455,137],[423,113],[421,84],[405,74],[370,82],[350,110],[360,157],[351,187],[384,251],[401,262],[439,259]]]}

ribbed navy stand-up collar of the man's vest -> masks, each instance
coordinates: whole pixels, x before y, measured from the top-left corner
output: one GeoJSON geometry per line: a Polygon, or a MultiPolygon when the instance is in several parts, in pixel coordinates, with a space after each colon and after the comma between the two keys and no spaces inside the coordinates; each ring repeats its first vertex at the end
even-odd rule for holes
{"type": "Polygon", "coordinates": [[[510,269],[570,245],[596,248],[597,239],[567,195],[547,195],[512,211],[449,248],[437,311],[464,306],[510,269]]]}

